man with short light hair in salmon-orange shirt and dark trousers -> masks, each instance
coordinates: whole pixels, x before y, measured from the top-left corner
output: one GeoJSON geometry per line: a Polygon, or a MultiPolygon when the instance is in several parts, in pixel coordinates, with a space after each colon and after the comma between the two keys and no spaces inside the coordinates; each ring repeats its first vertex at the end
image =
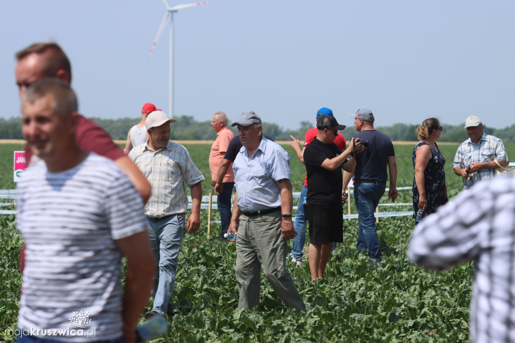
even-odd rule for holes
{"type": "Polygon", "coordinates": [[[218,194],[216,204],[218,212],[220,212],[221,231],[219,239],[227,242],[224,234],[227,233],[227,228],[231,222],[231,196],[232,188],[234,186],[234,173],[232,168],[229,167],[225,175],[218,175],[220,165],[224,158],[229,143],[234,138],[234,133],[227,127],[229,118],[224,112],[216,112],[211,121],[211,127],[216,131],[216,140],[211,146],[209,153],[209,168],[211,169],[211,185],[214,187],[218,178],[222,178],[223,189],[218,194]]]}

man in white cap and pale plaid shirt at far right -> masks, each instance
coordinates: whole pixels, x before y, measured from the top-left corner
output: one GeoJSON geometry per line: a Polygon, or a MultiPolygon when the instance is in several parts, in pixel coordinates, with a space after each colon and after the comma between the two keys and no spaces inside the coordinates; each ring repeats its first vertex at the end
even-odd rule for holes
{"type": "Polygon", "coordinates": [[[474,183],[495,175],[495,169],[509,164],[503,142],[483,132],[481,119],[471,115],[465,121],[469,139],[461,143],[454,156],[454,173],[463,178],[467,190],[474,183]]]}

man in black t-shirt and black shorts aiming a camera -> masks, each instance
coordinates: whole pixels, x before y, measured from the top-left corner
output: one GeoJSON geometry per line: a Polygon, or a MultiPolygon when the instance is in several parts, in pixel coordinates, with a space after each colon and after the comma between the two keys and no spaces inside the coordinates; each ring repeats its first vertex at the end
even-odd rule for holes
{"type": "Polygon", "coordinates": [[[334,117],[319,118],[317,129],[316,138],[305,147],[303,156],[307,171],[304,213],[310,224],[311,243],[307,254],[312,282],[323,278],[333,242],[343,242],[341,168],[352,173],[354,159],[347,158],[353,155],[354,149],[361,149],[359,142],[351,142],[340,153],[334,140],[338,130],[345,129],[345,125],[338,125],[334,117]]]}

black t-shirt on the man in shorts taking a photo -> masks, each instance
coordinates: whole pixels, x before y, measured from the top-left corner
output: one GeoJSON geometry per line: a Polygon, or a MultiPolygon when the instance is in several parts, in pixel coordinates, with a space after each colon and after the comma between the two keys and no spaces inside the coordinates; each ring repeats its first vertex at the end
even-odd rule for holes
{"type": "Polygon", "coordinates": [[[340,154],[336,144],[324,144],[315,138],[304,149],[307,171],[307,203],[315,207],[341,210],[341,168],[329,170],[321,167],[326,159],[340,154]]]}

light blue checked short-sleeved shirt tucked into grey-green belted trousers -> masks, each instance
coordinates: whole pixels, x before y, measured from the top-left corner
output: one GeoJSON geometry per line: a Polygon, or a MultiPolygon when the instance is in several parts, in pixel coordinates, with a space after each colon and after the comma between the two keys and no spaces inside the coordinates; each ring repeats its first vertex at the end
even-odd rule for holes
{"type": "Polygon", "coordinates": [[[290,157],[279,144],[263,137],[250,158],[242,147],[233,163],[238,208],[245,212],[281,206],[281,190],[276,181],[290,178],[290,157]]]}

